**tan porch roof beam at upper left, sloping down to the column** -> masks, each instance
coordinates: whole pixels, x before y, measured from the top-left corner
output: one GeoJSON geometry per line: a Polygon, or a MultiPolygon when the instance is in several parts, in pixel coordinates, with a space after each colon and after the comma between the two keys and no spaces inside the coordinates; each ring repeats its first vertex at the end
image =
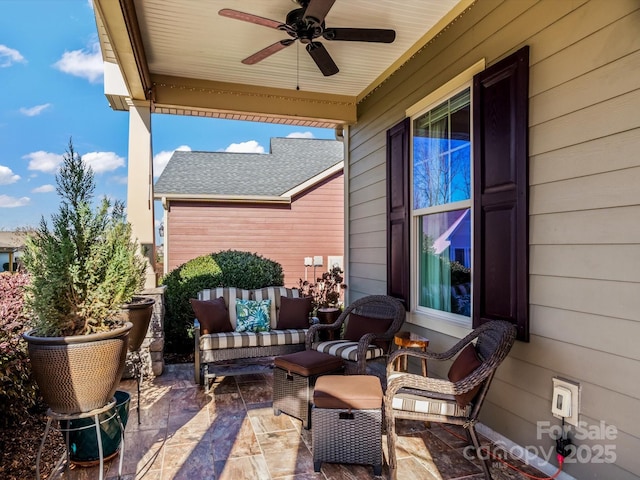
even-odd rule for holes
{"type": "Polygon", "coordinates": [[[94,0],[94,7],[131,98],[147,100],[151,75],[133,0],[94,0]]]}

